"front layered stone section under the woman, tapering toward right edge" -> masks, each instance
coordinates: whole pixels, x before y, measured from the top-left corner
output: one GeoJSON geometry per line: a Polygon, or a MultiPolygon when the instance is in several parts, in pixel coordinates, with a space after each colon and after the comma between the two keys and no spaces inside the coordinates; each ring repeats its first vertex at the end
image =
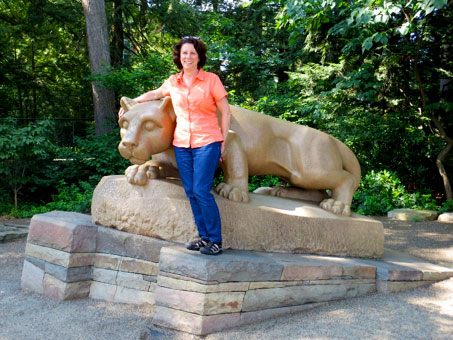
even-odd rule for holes
{"type": "Polygon", "coordinates": [[[453,270],[394,251],[383,260],[227,250],[204,256],[161,250],[156,326],[195,335],[314,308],[329,301],[397,292],[453,270]]]}

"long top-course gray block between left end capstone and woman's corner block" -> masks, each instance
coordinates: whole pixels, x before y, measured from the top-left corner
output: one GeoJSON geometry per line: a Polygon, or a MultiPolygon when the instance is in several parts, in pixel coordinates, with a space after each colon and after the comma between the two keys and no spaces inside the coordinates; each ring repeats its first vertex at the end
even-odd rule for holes
{"type": "Polygon", "coordinates": [[[161,248],[170,245],[174,243],[100,226],[96,252],[159,262],[161,248]]]}

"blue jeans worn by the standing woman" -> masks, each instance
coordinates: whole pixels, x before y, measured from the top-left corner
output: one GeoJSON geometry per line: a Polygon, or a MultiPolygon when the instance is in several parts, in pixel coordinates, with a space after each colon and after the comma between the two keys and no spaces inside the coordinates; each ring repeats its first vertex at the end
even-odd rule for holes
{"type": "Polygon", "coordinates": [[[220,213],[211,189],[220,159],[220,142],[200,148],[175,146],[182,185],[190,200],[198,234],[202,239],[222,242],[220,213]]]}

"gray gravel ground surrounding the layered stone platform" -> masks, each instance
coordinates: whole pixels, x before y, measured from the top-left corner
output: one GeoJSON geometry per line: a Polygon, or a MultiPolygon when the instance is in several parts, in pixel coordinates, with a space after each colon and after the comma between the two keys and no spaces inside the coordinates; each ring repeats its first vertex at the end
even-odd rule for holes
{"type": "MultiPolygon", "coordinates": [[[[453,268],[453,224],[382,222],[387,248],[453,268]]],[[[149,307],[89,299],[59,302],[21,291],[24,247],[24,240],[0,243],[0,340],[202,339],[152,327],[149,307]]],[[[452,340],[453,278],[404,293],[332,302],[204,339],[452,340]]]]}

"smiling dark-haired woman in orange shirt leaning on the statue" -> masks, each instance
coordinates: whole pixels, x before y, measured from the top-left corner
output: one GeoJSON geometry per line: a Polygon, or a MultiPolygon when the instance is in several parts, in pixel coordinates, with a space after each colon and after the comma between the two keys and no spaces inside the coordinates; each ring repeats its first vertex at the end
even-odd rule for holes
{"type": "MultiPolygon", "coordinates": [[[[223,251],[220,214],[210,191],[230,128],[227,92],[217,75],[203,71],[206,46],[198,38],[184,37],[179,41],[173,50],[173,61],[182,72],[134,100],[140,103],[171,97],[176,113],[176,163],[200,237],[190,242],[187,249],[218,255],[223,251]],[[220,129],[216,109],[221,113],[220,129]]],[[[119,115],[122,113],[120,110],[119,115]]]]}

